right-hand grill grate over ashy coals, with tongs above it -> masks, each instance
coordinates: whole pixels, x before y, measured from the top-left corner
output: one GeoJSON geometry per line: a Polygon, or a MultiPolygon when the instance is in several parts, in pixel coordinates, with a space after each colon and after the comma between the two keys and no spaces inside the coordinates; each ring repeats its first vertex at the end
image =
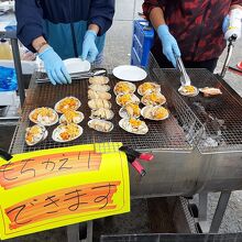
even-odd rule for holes
{"type": "MultiPolygon", "coordinates": [[[[172,69],[154,70],[161,81],[179,87],[179,74],[172,69]]],[[[227,153],[242,151],[242,99],[218,76],[206,69],[188,69],[193,85],[198,88],[216,87],[221,96],[205,98],[183,97],[206,128],[198,144],[201,153],[227,153]]]]}

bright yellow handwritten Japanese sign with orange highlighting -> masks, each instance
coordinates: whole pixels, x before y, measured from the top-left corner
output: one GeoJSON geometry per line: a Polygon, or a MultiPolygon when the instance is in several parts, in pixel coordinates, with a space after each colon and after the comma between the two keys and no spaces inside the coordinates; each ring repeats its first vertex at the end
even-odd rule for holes
{"type": "Polygon", "coordinates": [[[77,145],[0,158],[0,239],[130,211],[128,162],[119,146],[77,145]]]}

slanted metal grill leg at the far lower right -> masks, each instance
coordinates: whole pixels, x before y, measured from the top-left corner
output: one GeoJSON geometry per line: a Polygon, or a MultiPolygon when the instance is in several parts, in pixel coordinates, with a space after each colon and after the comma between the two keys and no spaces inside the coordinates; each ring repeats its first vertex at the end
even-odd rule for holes
{"type": "Polygon", "coordinates": [[[212,222],[211,222],[211,227],[210,227],[210,231],[209,231],[210,233],[218,233],[219,228],[222,222],[223,215],[227,209],[227,205],[230,199],[230,196],[231,196],[231,191],[222,191],[221,193],[221,195],[219,197],[218,206],[216,208],[215,216],[212,218],[212,222]]]}

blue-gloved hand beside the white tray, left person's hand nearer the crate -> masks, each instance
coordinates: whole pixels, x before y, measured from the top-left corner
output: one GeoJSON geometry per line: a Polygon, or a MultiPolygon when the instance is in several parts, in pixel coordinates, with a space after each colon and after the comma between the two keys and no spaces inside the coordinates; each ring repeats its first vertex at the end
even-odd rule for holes
{"type": "Polygon", "coordinates": [[[95,43],[96,37],[97,33],[92,30],[88,30],[84,37],[81,58],[87,59],[89,63],[94,63],[98,55],[98,48],[95,43]]]}

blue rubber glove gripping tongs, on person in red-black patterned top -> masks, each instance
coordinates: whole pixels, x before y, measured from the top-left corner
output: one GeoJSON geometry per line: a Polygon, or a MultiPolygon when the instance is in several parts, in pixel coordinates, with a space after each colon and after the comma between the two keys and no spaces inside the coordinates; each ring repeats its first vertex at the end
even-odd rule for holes
{"type": "Polygon", "coordinates": [[[162,24],[157,29],[157,34],[162,41],[163,54],[176,67],[176,56],[180,56],[180,51],[175,37],[169,33],[168,26],[162,24]]]}

